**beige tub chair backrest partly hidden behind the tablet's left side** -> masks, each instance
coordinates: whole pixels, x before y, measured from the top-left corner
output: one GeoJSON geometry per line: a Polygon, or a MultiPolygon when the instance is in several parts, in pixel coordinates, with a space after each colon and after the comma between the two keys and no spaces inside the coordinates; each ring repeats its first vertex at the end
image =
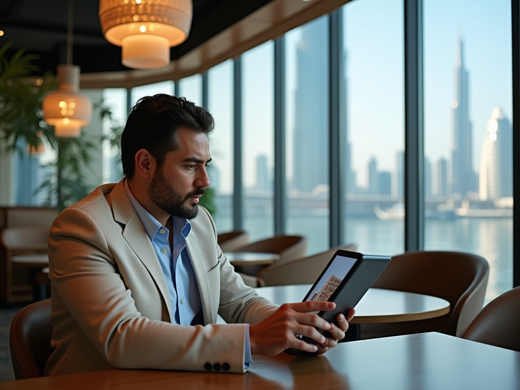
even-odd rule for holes
{"type": "Polygon", "coordinates": [[[265,285],[314,283],[337,250],[355,251],[357,245],[336,246],[313,256],[270,265],[258,272],[265,285]]]}

